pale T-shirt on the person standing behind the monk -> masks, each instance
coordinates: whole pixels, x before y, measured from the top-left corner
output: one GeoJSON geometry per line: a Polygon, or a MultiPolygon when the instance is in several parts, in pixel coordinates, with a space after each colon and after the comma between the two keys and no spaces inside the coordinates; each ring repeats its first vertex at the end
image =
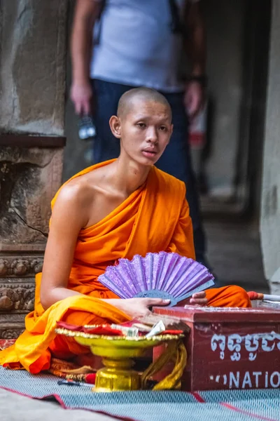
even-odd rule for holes
{"type": "MultiPolygon", "coordinates": [[[[98,0],[93,0],[98,1],[98,0]]],[[[176,0],[179,10],[185,1],[176,0]]],[[[172,34],[169,0],[106,0],[94,26],[90,76],[163,92],[183,91],[178,78],[182,39],[172,34]]]]}

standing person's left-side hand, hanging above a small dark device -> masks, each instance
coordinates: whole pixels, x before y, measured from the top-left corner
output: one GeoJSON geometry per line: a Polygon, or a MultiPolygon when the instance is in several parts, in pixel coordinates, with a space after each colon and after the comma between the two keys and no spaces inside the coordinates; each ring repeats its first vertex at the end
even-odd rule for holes
{"type": "Polygon", "coordinates": [[[92,86],[90,81],[84,83],[73,82],[71,86],[71,100],[75,112],[79,116],[87,116],[92,111],[92,86]]]}

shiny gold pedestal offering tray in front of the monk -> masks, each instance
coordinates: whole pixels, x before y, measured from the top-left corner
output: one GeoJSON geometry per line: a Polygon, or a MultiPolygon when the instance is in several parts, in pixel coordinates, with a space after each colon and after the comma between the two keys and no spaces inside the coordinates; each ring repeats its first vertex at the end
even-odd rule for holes
{"type": "MultiPolygon", "coordinates": [[[[93,326],[90,326],[93,327],[93,326]]],[[[141,377],[132,370],[133,358],[145,354],[146,349],[163,342],[177,341],[184,335],[110,336],[57,328],[56,333],[74,338],[80,345],[90,347],[92,354],[102,356],[105,368],[97,371],[95,391],[116,392],[141,389],[141,377]]]]}

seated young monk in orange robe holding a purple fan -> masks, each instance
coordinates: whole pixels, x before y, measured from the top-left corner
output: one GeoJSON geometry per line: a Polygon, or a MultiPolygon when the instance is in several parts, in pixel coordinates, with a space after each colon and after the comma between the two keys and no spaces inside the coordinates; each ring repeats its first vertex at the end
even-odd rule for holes
{"type": "MultiPolygon", "coordinates": [[[[195,259],[186,186],[154,166],[172,135],[167,100],[152,89],[134,88],[120,98],[109,123],[120,139],[120,156],[74,175],[52,200],[34,312],[15,345],[0,352],[3,366],[39,373],[48,370],[52,357],[88,353],[72,338],[56,335],[57,321],[122,323],[149,314],[154,305],[168,305],[162,299],[121,300],[102,286],[98,276],[118,259],[161,250],[195,259]]],[[[196,293],[190,303],[251,306],[237,286],[196,293]]]]}

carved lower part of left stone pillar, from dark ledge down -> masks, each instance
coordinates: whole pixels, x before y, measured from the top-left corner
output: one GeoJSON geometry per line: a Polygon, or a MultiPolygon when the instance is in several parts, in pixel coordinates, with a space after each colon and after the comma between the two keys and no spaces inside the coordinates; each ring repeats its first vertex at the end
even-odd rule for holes
{"type": "Polygon", "coordinates": [[[0,338],[20,335],[34,309],[64,145],[65,138],[0,135],[0,338]]]}

